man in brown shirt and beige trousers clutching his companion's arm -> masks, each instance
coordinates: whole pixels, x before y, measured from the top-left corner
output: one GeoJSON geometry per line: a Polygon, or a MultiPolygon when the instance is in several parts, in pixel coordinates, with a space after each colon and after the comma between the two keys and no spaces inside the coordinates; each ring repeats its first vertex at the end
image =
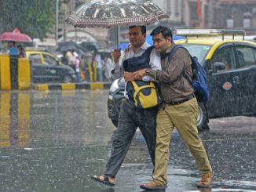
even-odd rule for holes
{"type": "Polygon", "coordinates": [[[155,169],[152,181],[143,183],[140,187],[145,190],[164,190],[166,188],[170,139],[174,127],[195,158],[201,172],[201,180],[197,186],[210,187],[213,172],[196,127],[198,103],[190,84],[192,60],[185,49],[177,49],[171,60],[168,60],[168,56],[175,46],[172,41],[172,31],[168,27],[156,27],[151,35],[155,49],[161,54],[162,71],[143,69],[134,72],[134,76],[141,79],[144,75],[149,75],[155,78],[155,81],[160,82],[164,104],[159,108],[156,118],[155,169]]]}

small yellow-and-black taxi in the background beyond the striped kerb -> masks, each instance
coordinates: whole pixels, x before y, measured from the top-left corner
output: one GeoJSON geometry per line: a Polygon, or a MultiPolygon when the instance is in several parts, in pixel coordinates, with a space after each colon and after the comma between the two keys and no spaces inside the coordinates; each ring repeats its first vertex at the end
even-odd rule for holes
{"type": "Polygon", "coordinates": [[[74,69],[60,63],[53,54],[39,50],[26,50],[26,57],[31,63],[33,83],[75,82],[74,69]]]}

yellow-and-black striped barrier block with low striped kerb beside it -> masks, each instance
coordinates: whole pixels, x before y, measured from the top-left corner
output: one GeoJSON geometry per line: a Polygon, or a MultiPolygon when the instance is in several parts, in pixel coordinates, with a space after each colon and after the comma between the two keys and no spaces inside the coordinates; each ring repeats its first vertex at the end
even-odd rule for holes
{"type": "MultiPolygon", "coordinates": [[[[96,81],[97,70],[94,63],[90,79],[96,81]]],[[[36,90],[77,90],[109,89],[111,82],[31,84],[31,64],[29,60],[16,56],[0,55],[0,90],[36,89],[36,90]]]]}

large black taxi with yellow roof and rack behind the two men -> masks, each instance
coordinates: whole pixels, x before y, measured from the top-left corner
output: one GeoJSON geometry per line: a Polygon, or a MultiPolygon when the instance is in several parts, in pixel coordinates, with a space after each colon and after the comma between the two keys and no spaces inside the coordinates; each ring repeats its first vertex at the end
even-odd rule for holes
{"type": "MultiPolygon", "coordinates": [[[[175,41],[196,56],[207,73],[210,100],[199,103],[197,127],[209,129],[210,118],[256,117],[256,43],[243,40],[243,30],[181,30],[175,41]],[[242,38],[237,38],[241,37],[242,38]]],[[[108,118],[118,124],[125,82],[115,80],[108,96],[108,118]]]]}

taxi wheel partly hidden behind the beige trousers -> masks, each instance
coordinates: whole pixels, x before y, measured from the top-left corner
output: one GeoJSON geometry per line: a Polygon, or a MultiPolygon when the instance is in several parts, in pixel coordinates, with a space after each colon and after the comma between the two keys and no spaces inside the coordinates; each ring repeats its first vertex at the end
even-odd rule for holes
{"type": "Polygon", "coordinates": [[[198,104],[197,129],[199,132],[209,130],[207,108],[204,103],[198,104]]]}

